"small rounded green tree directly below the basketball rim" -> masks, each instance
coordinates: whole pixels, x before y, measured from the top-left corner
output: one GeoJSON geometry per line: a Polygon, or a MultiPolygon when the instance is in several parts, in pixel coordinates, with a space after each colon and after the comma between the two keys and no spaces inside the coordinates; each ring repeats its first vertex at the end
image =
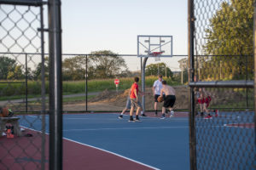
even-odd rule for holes
{"type": "Polygon", "coordinates": [[[160,75],[163,75],[166,77],[173,76],[171,69],[166,66],[166,63],[147,65],[146,70],[145,70],[145,75],[146,76],[158,76],[158,69],[159,69],[160,75]]]}

